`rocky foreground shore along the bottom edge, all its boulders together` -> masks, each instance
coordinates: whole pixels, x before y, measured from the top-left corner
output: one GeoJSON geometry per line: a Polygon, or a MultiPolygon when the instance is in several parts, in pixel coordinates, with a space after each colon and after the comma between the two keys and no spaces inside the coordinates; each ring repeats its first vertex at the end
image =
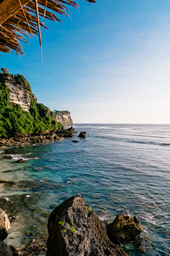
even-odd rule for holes
{"type": "Polygon", "coordinates": [[[1,256],[128,256],[120,242],[137,240],[143,230],[135,216],[121,213],[104,228],[98,215],[79,195],[68,198],[50,214],[47,245],[35,238],[26,248],[16,250],[3,242],[9,228],[8,217],[0,210],[1,256]]]}

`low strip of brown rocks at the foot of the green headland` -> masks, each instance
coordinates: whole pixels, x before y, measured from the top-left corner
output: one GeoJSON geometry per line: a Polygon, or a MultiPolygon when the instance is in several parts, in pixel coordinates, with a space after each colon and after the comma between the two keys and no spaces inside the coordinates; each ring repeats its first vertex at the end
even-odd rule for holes
{"type": "Polygon", "coordinates": [[[13,137],[8,137],[4,135],[0,137],[0,147],[1,146],[21,146],[22,144],[35,144],[35,143],[45,143],[47,141],[59,141],[62,137],[72,138],[77,132],[74,131],[73,127],[69,129],[57,129],[55,131],[47,131],[45,134],[24,134],[16,132],[13,137]]]}

